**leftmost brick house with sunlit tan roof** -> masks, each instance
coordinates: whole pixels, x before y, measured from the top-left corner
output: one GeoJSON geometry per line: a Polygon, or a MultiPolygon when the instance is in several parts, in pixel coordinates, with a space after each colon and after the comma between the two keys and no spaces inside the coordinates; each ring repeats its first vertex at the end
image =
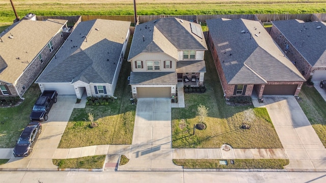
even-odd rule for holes
{"type": "Polygon", "coordinates": [[[66,23],[22,19],[0,34],[1,96],[23,96],[63,44],[66,23]]]}

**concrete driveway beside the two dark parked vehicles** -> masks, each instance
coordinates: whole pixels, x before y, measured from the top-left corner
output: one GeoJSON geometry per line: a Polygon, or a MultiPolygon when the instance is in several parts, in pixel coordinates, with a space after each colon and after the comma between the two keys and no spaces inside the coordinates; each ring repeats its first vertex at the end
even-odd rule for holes
{"type": "Polygon", "coordinates": [[[57,168],[52,164],[52,158],[56,153],[61,137],[66,129],[68,120],[75,106],[76,96],[58,96],[58,102],[53,104],[49,112],[48,120],[42,122],[42,133],[40,134],[33,153],[25,158],[15,158],[12,155],[13,149],[5,150],[9,162],[0,166],[3,170],[38,170],[44,168],[57,168]]]}

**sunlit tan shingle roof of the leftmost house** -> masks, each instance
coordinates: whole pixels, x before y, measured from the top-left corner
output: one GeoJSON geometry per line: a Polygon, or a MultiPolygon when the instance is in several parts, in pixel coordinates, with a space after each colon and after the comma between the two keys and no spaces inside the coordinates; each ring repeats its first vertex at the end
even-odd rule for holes
{"type": "Polygon", "coordinates": [[[5,29],[0,40],[0,80],[15,83],[66,23],[57,19],[21,20],[5,29]]]}

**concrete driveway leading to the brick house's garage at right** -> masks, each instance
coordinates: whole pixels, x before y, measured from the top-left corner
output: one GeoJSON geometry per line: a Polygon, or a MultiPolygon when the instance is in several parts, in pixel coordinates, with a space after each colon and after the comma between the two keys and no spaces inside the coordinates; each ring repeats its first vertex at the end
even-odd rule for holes
{"type": "Polygon", "coordinates": [[[326,169],[326,149],[293,96],[264,96],[264,106],[290,160],[286,169],[326,169]]]}

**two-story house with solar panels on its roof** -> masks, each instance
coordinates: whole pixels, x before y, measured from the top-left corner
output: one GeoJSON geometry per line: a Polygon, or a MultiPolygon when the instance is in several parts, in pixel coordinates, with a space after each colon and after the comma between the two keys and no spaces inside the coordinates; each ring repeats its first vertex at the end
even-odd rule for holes
{"type": "Polygon", "coordinates": [[[133,98],[171,98],[177,82],[203,85],[205,50],[197,23],[160,18],[138,25],[128,56],[133,98]]]}

